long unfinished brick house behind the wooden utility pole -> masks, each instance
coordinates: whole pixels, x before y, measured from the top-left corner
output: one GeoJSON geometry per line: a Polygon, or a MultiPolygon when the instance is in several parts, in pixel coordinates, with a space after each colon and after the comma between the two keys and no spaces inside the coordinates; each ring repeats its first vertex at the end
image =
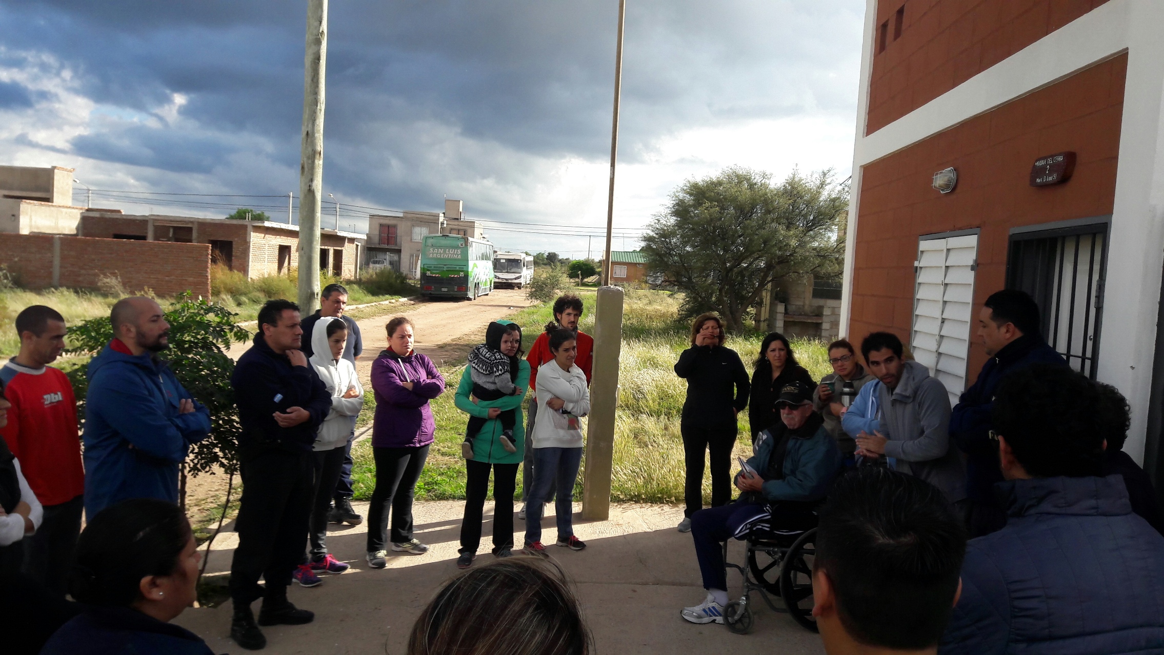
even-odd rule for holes
{"type": "MultiPolygon", "coordinates": [[[[158,214],[123,214],[116,209],[84,212],[78,236],[206,243],[211,262],[246,273],[248,278],[286,275],[299,265],[299,226],[270,221],[199,219],[158,214]]],[[[364,255],[363,234],[321,230],[319,268],[336,277],[352,278],[364,255]]]]}

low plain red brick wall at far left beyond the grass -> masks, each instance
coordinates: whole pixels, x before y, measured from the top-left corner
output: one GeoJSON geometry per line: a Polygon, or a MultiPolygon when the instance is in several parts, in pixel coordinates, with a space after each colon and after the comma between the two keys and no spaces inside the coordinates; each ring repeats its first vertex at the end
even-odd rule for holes
{"type": "Polygon", "coordinates": [[[27,289],[97,289],[102,276],[118,276],[130,291],[148,287],[158,296],[176,296],[189,290],[203,297],[211,292],[206,243],[0,234],[0,264],[27,289]]]}

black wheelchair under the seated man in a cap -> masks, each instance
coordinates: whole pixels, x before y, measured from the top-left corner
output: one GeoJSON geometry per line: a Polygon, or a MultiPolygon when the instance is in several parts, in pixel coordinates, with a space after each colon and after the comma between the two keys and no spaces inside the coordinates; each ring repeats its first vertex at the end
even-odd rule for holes
{"type": "Polygon", "coordinates": [[[751,596],[760,597],[773,612],[789,614],[804,628],[817,632],[812,617],[812,558],[816,555],[816,528],[807,531],[776,531],[767,526],[753,527],[744,537],[746,564],[728,561],[724,541],[724,563],[744,577],[744,596],[724,607],[724,624],[736,634],[752,629],[751,596]],[[772,596],[783,601],[776,607],[772,596]]]}

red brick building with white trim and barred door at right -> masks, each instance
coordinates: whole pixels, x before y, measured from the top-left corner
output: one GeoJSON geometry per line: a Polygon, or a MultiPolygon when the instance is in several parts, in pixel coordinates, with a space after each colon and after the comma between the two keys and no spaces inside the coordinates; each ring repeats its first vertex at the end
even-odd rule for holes
{"type": "Polygon", "coordinates": [[[842,305],[850,339],[896,333],[956,397],[981,302],[1028,291],[1048,342],[1127,396],[1154,475],[1162,24],[1158,0],[868,0],[842,305]]]}

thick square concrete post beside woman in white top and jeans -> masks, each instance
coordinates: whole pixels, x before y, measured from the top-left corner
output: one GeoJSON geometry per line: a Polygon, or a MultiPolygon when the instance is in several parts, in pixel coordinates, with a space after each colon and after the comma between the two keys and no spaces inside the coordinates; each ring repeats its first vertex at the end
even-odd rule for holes
{"type": "Polygon", "coordinates": [[[610,476],[615,463],[618,356],[623,346],[623,290],[617,286],[599,287],[596,305],[582,518],[605,521],[610,518],[610,476]]]}

